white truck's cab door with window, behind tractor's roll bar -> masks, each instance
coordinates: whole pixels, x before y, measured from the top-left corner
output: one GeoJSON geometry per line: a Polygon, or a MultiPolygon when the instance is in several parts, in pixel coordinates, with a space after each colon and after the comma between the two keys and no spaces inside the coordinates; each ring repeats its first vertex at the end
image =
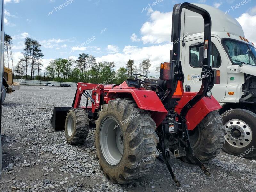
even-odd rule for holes
{"type": "MultiPolygon", "coordinates": [[[[184,85],[190,85],[192,92],[200,90],[202,67],[199,64],[199,48],[203,46],[203,39],[187,41],[182,54],[182,63],[185,80],[184,85]]],[[[211,66],[212,69],[220,70],[220,84],[215,84],[212,89],[212,95],[219,102],[225,98],[228,77],[226,73],[227,66],[222,62],[228,62],[225,52],[216,37],[212,37],[211,43],[211,66]]],[[[185,88],[185,86],[184,86],[185,88]]]]}

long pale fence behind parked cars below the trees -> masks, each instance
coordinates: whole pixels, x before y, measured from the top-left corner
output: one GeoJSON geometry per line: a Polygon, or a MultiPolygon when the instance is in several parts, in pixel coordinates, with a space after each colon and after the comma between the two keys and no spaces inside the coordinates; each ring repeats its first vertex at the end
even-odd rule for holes
{"type": "Polygon", "coordinates": [[[55,86],[60,86],[60,84],[68,84],[71,87],[76,87],[76,84],[77,84],[74,82],[37,81],[37,80],[26,80],[26,79],[13,79],[13,82],[20,82],[20,85],[34,85],[34,86],[43,86],[44,83],[52,83],[52,84],[55,84],[55,86]]]}

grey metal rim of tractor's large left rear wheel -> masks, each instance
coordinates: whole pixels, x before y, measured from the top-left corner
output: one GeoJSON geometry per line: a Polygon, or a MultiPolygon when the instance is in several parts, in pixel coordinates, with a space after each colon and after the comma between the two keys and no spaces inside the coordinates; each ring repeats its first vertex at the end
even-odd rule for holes
{"type": "Polygon", "coordinates": [[[122,130],[113,117],[105,119],[100,127],[100,148],[110,165],[117,165],[122,158],[124,140],[122,130]]]}

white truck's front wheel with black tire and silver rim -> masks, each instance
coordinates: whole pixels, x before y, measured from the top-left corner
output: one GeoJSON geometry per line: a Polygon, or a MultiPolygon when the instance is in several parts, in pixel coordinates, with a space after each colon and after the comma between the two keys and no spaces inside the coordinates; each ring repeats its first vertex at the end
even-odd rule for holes
{"type": "Polygon", "coordinates": [[[232,109],[223,116],[225,145],[223,150],[245,158],[256,156],[256,114],[245,109],[232,109]]]}

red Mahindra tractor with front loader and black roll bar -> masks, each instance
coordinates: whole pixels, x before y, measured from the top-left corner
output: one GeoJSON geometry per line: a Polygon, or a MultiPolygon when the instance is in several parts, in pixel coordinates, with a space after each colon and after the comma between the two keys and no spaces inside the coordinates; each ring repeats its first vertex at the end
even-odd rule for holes
{"type": "Polygon", "coordinates": [[[221,106],[211,95],[211,18],[207,11],[193,4],[176,4],[172,41],[180,37],[183,8],[201,14],[205,22],[202,86],[198,93],[183,91],[179,42],[173,44],[170,63],[161,64],[157,83],[144,88],[149,78],[141,74],[133,74],[134,79],[120,85],[78,83],[72,107],[54,108],[52,126],[55,130],[64,128],[70,144],[82,144],[89,122],[96,120],[100,168],[114,183],[125,184],[144,176],[157,158],[167,165],[172,179],[180,186],[170,159],[196,163],[210,175],[201,161],[215,158],[224,144],[225,131],[217,112],[221,106]],[[80,106],[82,96],[86,106],[80,106]]]}

